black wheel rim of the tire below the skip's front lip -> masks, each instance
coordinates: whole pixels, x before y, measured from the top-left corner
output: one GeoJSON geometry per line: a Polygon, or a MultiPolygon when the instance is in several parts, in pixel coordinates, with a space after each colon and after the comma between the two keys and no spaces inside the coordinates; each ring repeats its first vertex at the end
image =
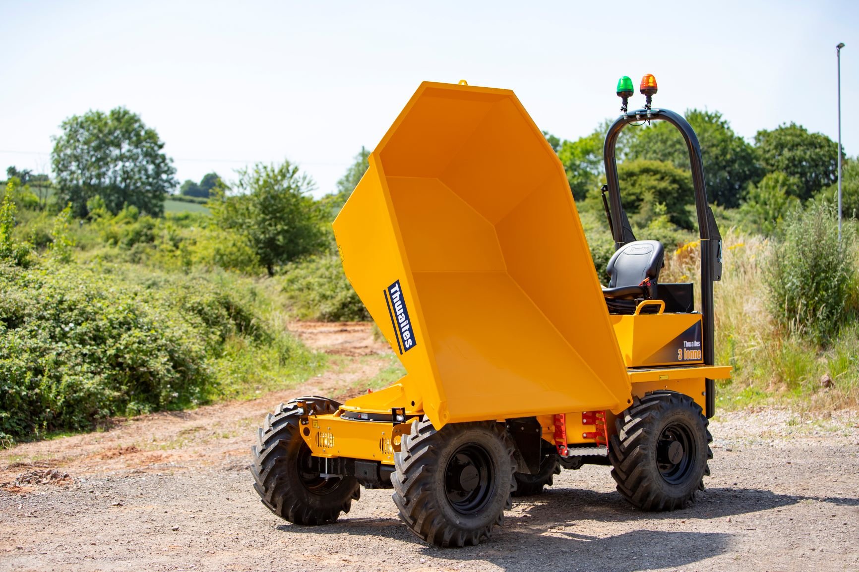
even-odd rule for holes
{"type": "Polygon", "coordinates": [[[475,514],[490,502],[495,470],[489,453],[477,443],[456,449],[444,472],[448,502],[460,514],[475,514]]]}

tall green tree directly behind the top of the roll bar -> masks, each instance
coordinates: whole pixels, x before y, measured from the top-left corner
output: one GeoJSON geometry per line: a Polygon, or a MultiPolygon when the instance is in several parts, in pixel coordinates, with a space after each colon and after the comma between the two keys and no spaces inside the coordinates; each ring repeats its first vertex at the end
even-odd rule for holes
{"type": "MultiPolygon", "coordinates": [[[[722,113],[690,109],[685,118],[701,144],[708,198],[726,207],[739,206],[743,190],[762,174],[754,148],[734,133],[722,113]]],[[[677,128],[664,121],[655,121],[640,130],[630,143],[630,155],[635,159],[668,161],[689,173],[691,180],[686,143],[677,128]]]]}

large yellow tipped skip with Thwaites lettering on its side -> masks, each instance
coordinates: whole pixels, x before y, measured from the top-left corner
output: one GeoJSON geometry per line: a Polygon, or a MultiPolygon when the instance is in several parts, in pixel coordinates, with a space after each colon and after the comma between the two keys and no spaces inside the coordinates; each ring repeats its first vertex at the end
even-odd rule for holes
{"type": "Polygon", "coordinates": [[[423,406],[436,428],[624,409],[631,386],[564,167],[513,92],[424,82],[369,162],[334,230],[408,371],[398,406],[423,406]],[[385,294],[398,280],[408,349],[385,294]]]}

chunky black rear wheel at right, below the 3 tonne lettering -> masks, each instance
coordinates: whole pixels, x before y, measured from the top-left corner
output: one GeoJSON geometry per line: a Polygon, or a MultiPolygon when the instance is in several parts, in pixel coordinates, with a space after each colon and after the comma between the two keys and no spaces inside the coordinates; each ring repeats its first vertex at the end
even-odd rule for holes
{"type": "Polygon", "coordinates": [[[661,391],[635,398],[616,424],[609,460],[627,501],[643,510],[673,510],[704,490],[713,438],[691,397],[661,391]]]}

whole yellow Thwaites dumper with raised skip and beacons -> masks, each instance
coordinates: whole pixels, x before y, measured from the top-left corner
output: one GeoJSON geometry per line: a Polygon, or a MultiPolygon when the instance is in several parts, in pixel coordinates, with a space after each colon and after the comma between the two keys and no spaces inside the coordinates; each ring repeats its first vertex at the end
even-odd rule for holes
{"type": "Polygon", "coordinates": [[[281,404],[253,447],[254,488],[283,519],[320,525],[368,489],[439,546],[476,545],[561,467],[612,466],[644,510],[682,508],[709,474],[713,283],[722,240],[685,119],[651,105],[606,135],[617,246],[600,285],[564,167],[508,89],[424,82],[334,222],[344,271],[407,374],[341,404],[281,404]],[[691,283],[660,283],[663,247],[624,214],[615,143],[664,120],[689,149],[700,231],[691,283]]]}

